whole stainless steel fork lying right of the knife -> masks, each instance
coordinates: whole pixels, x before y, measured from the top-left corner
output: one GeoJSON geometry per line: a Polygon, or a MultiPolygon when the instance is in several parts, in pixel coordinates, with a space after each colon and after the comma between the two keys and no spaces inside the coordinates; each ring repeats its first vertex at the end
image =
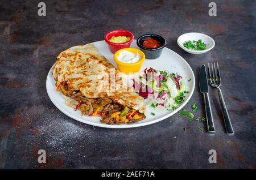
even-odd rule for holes
{"type": "Polygon", "coordinates": [[[209,84],[218,89],[218,97],[220,97],[220,102],[221,102],[221,110],[222,110],[222,115],[224,118],[224,122],[225,122],[225,127],[226,127],[226,133],[228,135],[233,135],[234,134],[234,130],[229,118],[229,113],[228,110],[226,109],[226,104],[224,101],[224,98],[222,96],[222,92],[220,89],[221,86],[221,76],[220,76],[220,67],[218,67],[218,63],[216,65],[216,63],[208,63],[208,73],[209,73],[209,79],[208,82],[209,84]]]}

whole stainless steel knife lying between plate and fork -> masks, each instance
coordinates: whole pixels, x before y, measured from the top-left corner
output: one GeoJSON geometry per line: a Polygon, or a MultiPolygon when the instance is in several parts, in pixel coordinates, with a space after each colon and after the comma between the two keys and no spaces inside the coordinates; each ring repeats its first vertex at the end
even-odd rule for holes
{"type": "Polygon", "coordinates": [[[209,99],[209,88],[208,88],[208,79],[207,79],[207,72],[205,65],[201,66],[200,68],[200,82],[199,87],[201,93],[204,95],[204,105],[205,105],[205,113],[207,115],[207,128],[208,132],[215,132],[213,117],[212,117],[212,108],[210,106],[210,99],[209,99]]]}

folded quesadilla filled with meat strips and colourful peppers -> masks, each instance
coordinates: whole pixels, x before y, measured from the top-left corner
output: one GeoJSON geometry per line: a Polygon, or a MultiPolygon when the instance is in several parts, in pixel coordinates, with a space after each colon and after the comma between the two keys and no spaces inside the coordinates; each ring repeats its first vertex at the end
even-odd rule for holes
{"type": "Polygon", "coordinates": [[[57,56],[53,67],[56,91],[83,115],[101,116],[108,124],[134,123],[146,118],[143,97],[128,87],[122,74],[93,44],[74,46],[57,56]]]}

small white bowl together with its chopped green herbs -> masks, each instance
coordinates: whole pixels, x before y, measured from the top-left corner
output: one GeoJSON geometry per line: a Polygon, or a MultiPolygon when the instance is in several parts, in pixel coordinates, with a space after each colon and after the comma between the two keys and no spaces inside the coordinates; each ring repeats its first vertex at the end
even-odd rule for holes
{"type": "Polygon", "coordinates": [[[215,46],[212,37],[198,32],[185,33],[177,38],[177,44],[185,52],[191,54],[203,54],[215,46]]]}

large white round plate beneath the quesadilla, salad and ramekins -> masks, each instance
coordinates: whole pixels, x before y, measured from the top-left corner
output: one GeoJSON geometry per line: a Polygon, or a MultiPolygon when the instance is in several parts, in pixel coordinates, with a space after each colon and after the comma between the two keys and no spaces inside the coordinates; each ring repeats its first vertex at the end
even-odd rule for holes
{"type": "MultiPolygon", "coordinates": [[[[110,53],[108,45],[106,44],[105,41],[97,41],[97,42],[94,42],[93,44],[98,49],[98,52],[104,55],[110,61],[110,63],[112,63],[115,67],[117,67],[113,59],[113,54],[110,53]]],[[[133,43],[131,44],[131,47],[138,48],[136,45],[136,40],[133,41],[133,43]]],[[[185,84],[189,88],[189,93],[186,94],[184,103],[181,104],[179,108],[175,109],[174,111],[157,112],[152,110],[151,108],[150,109],[147,108],[147,112],[145,114],[147,118],[131,125],[126,125],[126,124],[106,125],[100,122],[100,117],[88,117],[85,115],[82,116],[79,110],[75,111],[73,108],[70,108],[69,106],[65,105],[64,98],[60,95],[60,93],[55,91],[56,81],[52,76],[52,68],[51,70],[49,70],[49,73],[47,75],[46,89],[47,89],[48,96],[53,102],[53,104],[61,112],[63,112],[64,114],[68,115],[73,119],[76,119],[77,121],[86,123],[88,125],[107,127],[107,128],[130,128],[130,127],[146,126],[152,123],[162,121],[163,119],[166,119],[171,115],[174,115],[175,113],[177,113],[181,108],[183,108],[183,106],[185,106],[185,104],[187,104],[195,88],[195,76],[193,74],[191,67],[179,54],[173,52],[168,48],[163,49],[163,53],[158,59],[153,59],[153,60],[146,59],[142,65],[141,71],[143,71],[144,68],[146,67],[152,67],[152,68],[155,68],[156,70],[167,70],[169,72],[174,72],[174,73],[177,72],[177,74],[183,77],[185,84]],[[191,80],[188,82],[189,79],[191,80]],[[151,115],[151,112],[155,113],[155,115],[151,115]]]]}

